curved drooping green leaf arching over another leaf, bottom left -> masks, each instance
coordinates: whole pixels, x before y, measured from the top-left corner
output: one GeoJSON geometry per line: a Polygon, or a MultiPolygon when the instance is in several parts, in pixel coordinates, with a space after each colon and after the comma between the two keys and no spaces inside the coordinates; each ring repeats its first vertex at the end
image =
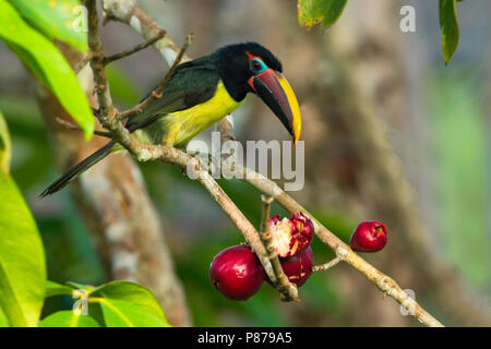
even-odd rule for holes
{"type": "Polygon", "coordinates": [[[130,281],[111,281],[95,288],[91,292],[91,297],[103,297],[132,303],[167,323],[164,311],[155,296],[141,285],[130,281]]]}

